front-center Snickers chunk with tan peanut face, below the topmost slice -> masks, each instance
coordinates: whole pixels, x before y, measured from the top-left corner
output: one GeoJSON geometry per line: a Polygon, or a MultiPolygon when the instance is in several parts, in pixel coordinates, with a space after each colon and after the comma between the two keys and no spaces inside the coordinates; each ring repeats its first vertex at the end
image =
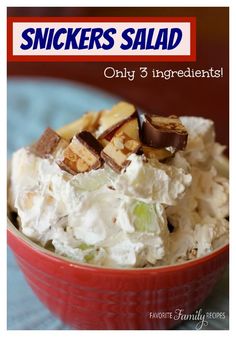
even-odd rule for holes
{"type": "Polygon", "coordinates": [[[101,157],[107,165],[119,173],[130,164],[128,157],[132,153],[136,153],[140,146],[139,141],[132,139],[122,131],[118,131],[101,152],[101,157]]]}

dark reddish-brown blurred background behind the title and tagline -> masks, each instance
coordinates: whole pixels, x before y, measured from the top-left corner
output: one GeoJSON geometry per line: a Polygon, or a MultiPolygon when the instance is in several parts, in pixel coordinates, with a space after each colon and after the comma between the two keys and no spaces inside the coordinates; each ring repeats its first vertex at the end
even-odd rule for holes
{"type": "Polygon", "coordinates": [[[8,16],[196,16],[197,62],[190,63],[9,63],[8,76],[43,76],[87,83],[119,95],[146,111],[164,115],[196,115],[216,123],[217,140],[228,145],[228,9],[227,8],[9,8],[8,16]],[[138,71],[139,67],[209,69],[223,67],[223,77],[107,79],[112,66],[138,71]]]}

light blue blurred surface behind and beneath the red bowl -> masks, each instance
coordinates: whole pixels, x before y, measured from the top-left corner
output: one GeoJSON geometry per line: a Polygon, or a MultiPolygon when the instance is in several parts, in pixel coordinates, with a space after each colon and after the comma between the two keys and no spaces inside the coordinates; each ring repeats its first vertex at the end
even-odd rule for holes
{"type": "MultiPolygon", "coordinates": [[[[8,157],[37,139],[47,126],[58,128],[86,111],[109,108],[120,98],[92,87],[50,79],[8,80],[8,157]]],[[[36,298],[8,250],[7,327],[9,330],[67,330],[36,298]]],[[[224,312],[225,319],[209,320],[204,329],[229,328],[228,270],[201,306],[204,312],[224,312]]],[[[184,322],[176,329],[195,329],[184,322]]]]}

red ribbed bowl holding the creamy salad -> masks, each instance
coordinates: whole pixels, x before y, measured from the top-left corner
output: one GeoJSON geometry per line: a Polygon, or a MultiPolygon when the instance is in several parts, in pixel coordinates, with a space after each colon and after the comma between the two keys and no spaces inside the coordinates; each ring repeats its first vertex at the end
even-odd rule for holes
{"type": "Polygon", "coordinates": [[[59,257],[31,242],[11,223],[8,243],[38,298],[76,329],[172,328],[180,323],[174,317],[176,309],[190,314],[206,299],[229,255],[225,245],[174,266],[112,269],[59,257]]]}

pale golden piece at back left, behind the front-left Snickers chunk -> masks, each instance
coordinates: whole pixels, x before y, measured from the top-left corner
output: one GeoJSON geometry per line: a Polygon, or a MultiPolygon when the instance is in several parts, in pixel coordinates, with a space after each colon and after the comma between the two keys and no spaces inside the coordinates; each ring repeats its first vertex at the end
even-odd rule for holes
{"type": "Polygon", "coordinates": [[[63,126],[57,130],[57,133],[68,141],[81,131],[94,132],[98,127],[99,119],[102,112],[87,112],[78,120],[63,126]]]}

